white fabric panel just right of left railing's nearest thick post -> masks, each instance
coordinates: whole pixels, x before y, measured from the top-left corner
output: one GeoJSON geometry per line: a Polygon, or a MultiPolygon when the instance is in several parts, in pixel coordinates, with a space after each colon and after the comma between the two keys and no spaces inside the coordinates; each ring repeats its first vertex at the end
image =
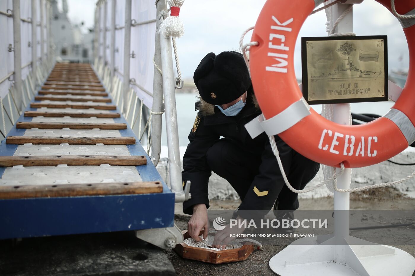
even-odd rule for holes
{"type": "MultiPolygon", "coordinates": [[[[32,18],[32,1],[20,0],[20,18],[32,18]]],[[[24,21],[20,22],[21,32],[21,47],[22,47],[22,66],[32,61],[32,47],[29,47],[29,42],[32,43],[32,23],[24,21]]],[[[29,74],[29,67],[22,70],[22,80],[25,80],[29,74]]]]}

